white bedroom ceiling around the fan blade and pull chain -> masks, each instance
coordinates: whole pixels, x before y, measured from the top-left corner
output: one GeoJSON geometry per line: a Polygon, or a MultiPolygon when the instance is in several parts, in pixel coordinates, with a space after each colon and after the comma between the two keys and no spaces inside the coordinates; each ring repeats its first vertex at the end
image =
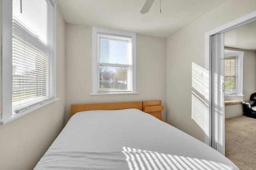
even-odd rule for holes
{"type": "Polygon", "coordinates": [[[146,0],[58,0],[67,23],[168,37],[227,0],[155,0],[140,14],[146,0]]]}

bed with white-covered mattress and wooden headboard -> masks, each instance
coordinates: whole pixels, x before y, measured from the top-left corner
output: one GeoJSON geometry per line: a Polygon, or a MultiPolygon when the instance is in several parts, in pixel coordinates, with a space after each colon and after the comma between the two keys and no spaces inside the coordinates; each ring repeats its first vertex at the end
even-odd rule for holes
{"type": "Polygon", "coordinates": [[[72,117],[34,170],[239,170],[162,121],[162,109],[159,100],[72,105],[72,117]]]}

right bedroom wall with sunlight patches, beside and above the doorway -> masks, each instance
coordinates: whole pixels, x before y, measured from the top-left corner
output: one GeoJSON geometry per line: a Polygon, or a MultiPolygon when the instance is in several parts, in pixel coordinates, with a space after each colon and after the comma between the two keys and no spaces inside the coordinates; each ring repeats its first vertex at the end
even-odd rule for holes
{"type": "Polygon", "coordinates": [[[208,87],[202,82],[209,78],[204,70],[204,34],[255,10],[255,0],[230,0],[167,38],[167,121],[203,142],[208,131],[204,127],[204,88],[208,87]],[[195,70],[204,73],[203,81],[198,74],[192,78],[195,70]],[[192,80],[196,86],[192,87],[192,80]]]}

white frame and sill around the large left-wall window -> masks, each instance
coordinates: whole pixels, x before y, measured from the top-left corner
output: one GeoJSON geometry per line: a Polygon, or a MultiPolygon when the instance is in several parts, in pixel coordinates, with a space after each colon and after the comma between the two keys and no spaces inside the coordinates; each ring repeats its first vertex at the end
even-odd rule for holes
{"type": "Polygon", "coordinates": [[[2,0],[2,114],[0,125],[4,125],[23,115],[26,115],[40,107],[55,102],[56,98],[56,0],[50,0],[53,4],[53,27],[54,27],[54,59],[53,59],[53,79],[54,79],[54,96],[38,106],[31,107],[22,113],[12,112],[12,0],[2,0]]]}

